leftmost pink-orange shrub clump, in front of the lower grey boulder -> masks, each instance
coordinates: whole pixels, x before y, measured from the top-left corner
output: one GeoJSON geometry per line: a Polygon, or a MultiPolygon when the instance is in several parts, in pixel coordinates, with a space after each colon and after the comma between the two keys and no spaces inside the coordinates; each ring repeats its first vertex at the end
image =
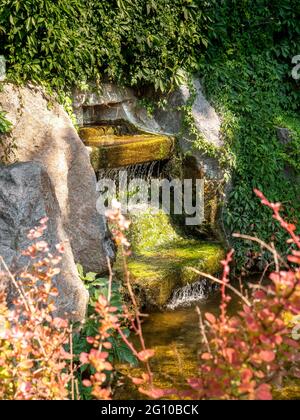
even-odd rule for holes
{"type": "MultiPolygon", "coordinates": [[[[40,238],[45,228],[46,220],[30,238],[40,238]]],[[[31,265],[18,279],[2,258],[0,264],[1,284],[13,283],[18,293],[13,307],[5,291],[0,293],[0,399],[67,399],[70,355],[64,345],[69,329],[66,321],[52,316],[57,296],[52,280],[61,257],[49,254],[40,239],[23,254],[31,265]]]]}

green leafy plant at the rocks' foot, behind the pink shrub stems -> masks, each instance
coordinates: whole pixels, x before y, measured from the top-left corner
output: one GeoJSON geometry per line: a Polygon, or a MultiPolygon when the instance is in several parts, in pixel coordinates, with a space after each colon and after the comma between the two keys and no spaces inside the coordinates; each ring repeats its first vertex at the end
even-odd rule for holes
{"type": "MultiPolygon", "coordinates": [[[[89,353],[92,345],[87,342],[87,337],[95,337],[99,334],[99,320],[95,313],[95,305],[98,301],[99,296],[105,296],[108,298],[109,294],[109,280],[108,278],[100,278],[95,273],[84,274],[81,265],[77,265],[78,273],[81,280],[84,282],[86,289],[89,292],[90,300],[88,305],[88,314],[85,321],[84,327],[80,330],[80,333],[74,335],[73,339],[73,351],[75,356],[75,362],[79,361],[79,355],[81,353],[89,353]]],[[[121,315],[123,313],[123,296],[121,293],[121,286],[115,280],[112,283],[112,294],[111,294],[111,306],[118,308],[116,314],[121,315]]],[[[130,331],[126,325],[124,325],[123,333],[129,337],[130,331]]],[[[132,354],[131,350],[126,346],[121,337],[112,332],[111,336],[107,339],[111,343],[112,347],[109,350],[108,360],[112,363],[129,363],[130,365],[136,365],[137,360],[132,354]]],[[[83,399],[92,399],[91,389],[86,388],[82,385],[82,381],[89,377],[95,372],[91,371],[90,366],[82,366],[77,374],[77,379],[80,388],[80,395],[83,399]]]]}

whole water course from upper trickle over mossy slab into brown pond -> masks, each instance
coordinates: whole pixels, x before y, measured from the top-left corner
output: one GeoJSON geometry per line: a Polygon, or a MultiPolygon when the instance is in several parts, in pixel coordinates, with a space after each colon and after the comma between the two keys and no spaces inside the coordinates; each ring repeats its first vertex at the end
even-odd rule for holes
{"type": "MultiPolygon", "coordinates": [[[[100,170],[98,179],[111,179],[117,186],[128,185],[134,179],[150,183],[153,178],[161,179],[163,164],[154,161],[100,170]]],[[[208,273],[210,270],[211,274],[215,274],[223,250],[215,243],[201,243],[197,238],[185,238],[180,229],[174,227],[169,215],[162,212],[150,214],[149,190],[140,195],[138,206],[142,212],[137,214],[135,208],[131,214],[131,278],[141,289],[144,288],[147,295],[145,301],[155,302],[164,309],[152,309],[143,325],[146,347],[155,351],[151,361],[154,383],[158,388],[183,390],[187,388],[186,379],[197,372],[198,352],[202,350],[196,307],[202,314],[210,312],[218,315],[220,306],[220,292],[217,288],[209,281],[199,280],[199,276],[191,279],[188,267],[198,268],[200,261],[201,271],[208,273]]],[[[229,312],[234,314],[241,303],[234,294],[231,297],[229,312]]],[[[135,340],[134,337],[132,339],[135,340]]],[[[144,399],[131,381],[125,379],[128,376],[140,376],[140,367],[121,365],[117,369],[124,379],[116,388],[114,399],[144,399]]],[[[295,392],[296,397],[297,393],[299,397],[299,388],[295,392]]],[[[281,392],[279,397],[284,398],[285,395],[281,392]]]]}

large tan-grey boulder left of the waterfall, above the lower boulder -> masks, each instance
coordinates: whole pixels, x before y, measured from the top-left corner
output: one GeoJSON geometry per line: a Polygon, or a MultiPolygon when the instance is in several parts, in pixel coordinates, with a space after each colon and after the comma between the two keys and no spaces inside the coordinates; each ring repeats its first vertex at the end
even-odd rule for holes
{"type": "Polygon", "coordinates": [[[113,250],[106,223],[96,211],[96,177],[89,155],[71,119],[33,86],[4,84],[0,105],[13,124],[10,135],[1,138],[1,161],[43,164],[55,189],[75,261],[87,271],[106,271],[106,251],[113,257],[113,250]]]}

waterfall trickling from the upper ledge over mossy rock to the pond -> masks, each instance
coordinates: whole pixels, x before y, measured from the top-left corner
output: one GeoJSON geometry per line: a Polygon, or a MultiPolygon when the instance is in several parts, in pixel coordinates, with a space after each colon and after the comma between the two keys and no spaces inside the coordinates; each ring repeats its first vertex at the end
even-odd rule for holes
{"type": "MultiPolygon", "coordinates": [[[[187,249],[197,246],[193,242],[187,242],[184,234],[176,230],[170,214],[165,212],[163,200],[160,203],[154,202],[155,206],[152,207],[151,181],[153,179],[162,180],[163,164],[162,162],[152,161],[127,167],[102,169],[98,172],[99,180],[111,180],[117,187],[117,197],[112,197],[115,191],[109,188],[105,191],[105,194],[108,194],[109,198],[117,198],[122,203],[124,214],[130,214],[129,218],[132,221],[130,241],[133,255],[136,257],[132,264],[132,270],[136,270],[136,277],[138,277],[141,287],[143,287],[143,282],[148,284],[147,287],[149,287],[149,282],[153,278],[153,284],[155,285],[153,293],[157,293],[157,295],[159,295],[156,282],[157,273],[161,275],[161,281],[163,282],[166,267],[170,272],[174,272],[175,288],[178,285],[176,276],[181,275],[180,270],[176,271],[178,261],[182,261],[183,267],[190,263],[190,257],[184,253],[182,255],[182,244],[187,249]],[[142,180],[146,187],[141,187],[141,183],[137,187],[138,183],[131,184],[135,180],[142,180]],[[127,202],[128,205],[125,210],[123,198],[126,198],[128,202],[132,200],[134,204],[130,203],[129,205],[127,202]],[[172,252],[170,252],[170,249],[172,252]],[[159,260],[160,258],[161,260],[159,260]],[[163,267],[160,261],[164,262],[163,267]]],[[[201,246],[201,244],[198,246],[201,246]]],[[[199,259],[201,259],[201,251],[199,252],[199,259]]],[[[167,292],[167,297],[161,307],[174,310],[178,307],[191,306],[195,302],[208,298],[214,286],[206,279],[200,279],[175,291],[173,291],[174,288],[167,292]]]]}

